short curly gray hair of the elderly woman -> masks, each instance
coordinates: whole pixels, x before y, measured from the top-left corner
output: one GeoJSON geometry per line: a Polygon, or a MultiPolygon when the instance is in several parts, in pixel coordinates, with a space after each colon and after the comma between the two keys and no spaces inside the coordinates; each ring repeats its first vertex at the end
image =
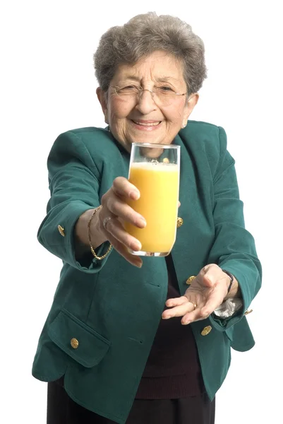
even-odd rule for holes
{"type": "Polygon", "coordinates": [[[123,26],[107,30],[93,55],[95,76],[107,91],[119,64],[135,64],[156,50],[172,54],[183,64],[188,95],[197,93],[206,78],[205,47],[191,25],[169,15],[149,12],[123,26]]]}

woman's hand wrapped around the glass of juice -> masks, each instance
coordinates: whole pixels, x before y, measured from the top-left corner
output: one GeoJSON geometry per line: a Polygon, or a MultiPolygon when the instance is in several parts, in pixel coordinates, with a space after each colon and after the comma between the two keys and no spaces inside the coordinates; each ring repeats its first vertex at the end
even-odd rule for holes
{"type": "MultiPolygon", "coordinates": [[[[142,266],[140,257],[128,252],[128,248],[140,250],[141,244],[124,229],[127,221],[138,228],[144,228],[145,218],[126,203],[127,199],[138,200],[140,192],[124,177],[114,179],[112,187],[102,196],[102,208],[97,214],[98,228],[121,256],[135,266],[142,266]]],[[[91,227],[90,227],[90,232],[91,227]]]]}

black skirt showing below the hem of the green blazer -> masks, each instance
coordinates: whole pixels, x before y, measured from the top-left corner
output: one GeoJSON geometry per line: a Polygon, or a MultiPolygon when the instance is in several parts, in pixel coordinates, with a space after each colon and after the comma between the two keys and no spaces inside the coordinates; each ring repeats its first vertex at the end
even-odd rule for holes
{"type": "MultiPolygon", "coordinates": [[[[76,404],[62,384],[48,383],[47,424],[114,424],[115,421],[76,404]]],[[[126,424],[214,424],[215,399],[207,394],[183,399],[133,402],[126,424]]]]}

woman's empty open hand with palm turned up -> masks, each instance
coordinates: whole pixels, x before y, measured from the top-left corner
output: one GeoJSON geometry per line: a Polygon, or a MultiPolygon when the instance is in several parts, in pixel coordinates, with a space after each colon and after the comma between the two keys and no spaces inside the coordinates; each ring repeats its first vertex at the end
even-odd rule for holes
{"type": "Polygon", "coordinates": [[[181,324],[190,324],[209,317],[224,301],[229,283],[229,276],[218,265],[206,265],[183,296],[167,300],[171,309],[165,310],[162,318],[183,317],[181,324]]]}

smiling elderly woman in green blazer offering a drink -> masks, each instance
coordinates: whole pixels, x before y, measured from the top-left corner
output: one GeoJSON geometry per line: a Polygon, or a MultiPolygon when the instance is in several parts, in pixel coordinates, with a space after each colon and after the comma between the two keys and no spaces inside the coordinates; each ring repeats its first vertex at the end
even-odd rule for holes
{"type": "Polygon", "coordinates": [[[234,160],[220,126],[188,121],[206,77],[203,42],[179,18],[147,13],[102,36],[95,70],[106,129],[61,134],[38,238],[63,260],[32,374],[48,423],[212,424],[230,348],[254,341],[260,288],[234,160]],[[128,206],[131,143],[181,146],[176,242],[166,258],[129,253],[145,228],[128,206]]]}

